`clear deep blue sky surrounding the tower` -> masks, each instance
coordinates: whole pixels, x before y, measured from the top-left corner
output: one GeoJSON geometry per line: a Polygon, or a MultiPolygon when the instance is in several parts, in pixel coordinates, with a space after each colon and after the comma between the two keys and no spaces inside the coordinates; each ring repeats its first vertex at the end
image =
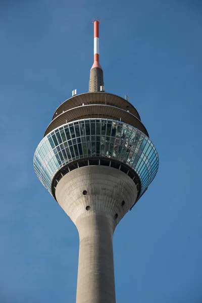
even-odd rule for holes
{"type": "Polygon", "coordinates": [[[160,157],[114,235],[117,303],[202,301],[200,1],[0,4],[0,301],[75,302],[76,227],[33,154],[55,109],[88,90],[99,16],[106,91],[129,95],[160,157]]]}

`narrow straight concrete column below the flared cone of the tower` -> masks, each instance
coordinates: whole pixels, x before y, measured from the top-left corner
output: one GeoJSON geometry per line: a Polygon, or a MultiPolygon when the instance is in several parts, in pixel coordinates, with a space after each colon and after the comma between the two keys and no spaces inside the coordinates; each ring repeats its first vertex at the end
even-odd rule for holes
{"type": "Polygon", "coordinates": [[[94,212],[78,218],[79,264],[76,303],[115,303],[113,218],[94,212]]]}

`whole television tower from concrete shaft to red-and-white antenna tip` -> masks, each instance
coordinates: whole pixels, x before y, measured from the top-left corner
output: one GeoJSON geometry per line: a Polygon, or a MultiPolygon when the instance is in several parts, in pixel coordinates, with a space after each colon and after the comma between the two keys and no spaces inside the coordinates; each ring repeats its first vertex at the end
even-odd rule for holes
{"type": "Polygon", "coordinates": [[[34,154],[34,169],[79,233],[76,303],[115,303],[113,234],[155,178],[159,158],[135,107],[105,92],[99,18],[89,91],[62,103],[34,154]]]}

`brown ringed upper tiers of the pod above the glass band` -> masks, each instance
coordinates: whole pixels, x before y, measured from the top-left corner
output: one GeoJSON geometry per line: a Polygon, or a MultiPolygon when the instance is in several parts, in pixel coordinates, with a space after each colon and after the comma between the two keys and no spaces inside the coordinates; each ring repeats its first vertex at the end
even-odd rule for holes
{"type": "Polygon", "coordinates": [[[122,97],[105,92],[82,93],[67,99],[56,110],[44,136],[60,125],[87,118],[122,121],[136,127],[148,136],[148,132],[140,121],[140,116],[134,106],[122,97]]]}

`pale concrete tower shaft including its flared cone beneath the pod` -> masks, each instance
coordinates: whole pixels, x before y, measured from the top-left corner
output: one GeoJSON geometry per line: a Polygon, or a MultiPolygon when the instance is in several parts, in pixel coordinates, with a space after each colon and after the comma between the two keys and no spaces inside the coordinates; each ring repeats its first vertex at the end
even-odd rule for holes
{"type": "Polygon", "coordinates": [[[59,181],[57,201],[79,232],[76,303],[115,303],[113,234],[136,197],[132,179],[112,167],[81,167],[59,181]]]}

